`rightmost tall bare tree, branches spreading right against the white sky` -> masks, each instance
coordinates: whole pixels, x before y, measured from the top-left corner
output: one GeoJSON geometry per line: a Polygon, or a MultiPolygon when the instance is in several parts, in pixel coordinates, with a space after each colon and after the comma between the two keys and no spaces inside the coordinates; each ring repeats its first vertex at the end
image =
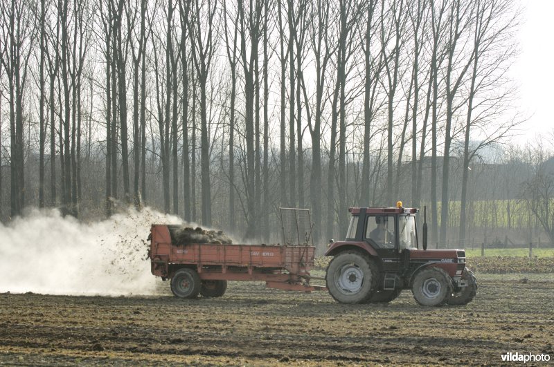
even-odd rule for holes
{"type": "MultiPolygon", "coordinates": [[[[513,29],[517,25],[519,12],[510,10],[510,1],[480,0],[476,3],[474,18],[473,64],[469,94],[467,96],[467,114],[464,126],[464,146],[462,164],[462,188],[460,205],[459,238],[465,242],[467,181],[470,162],[480,149],[506,136],[517,124],[517,120],[504,120],[500,117],[507,113],[512,90],[503,90],[507,65],[515,56],[512,47],[513,29]],[[504,14],[511,17],[499,17],[504,14]],[[494,93],[493,93],[494,92],[494,93]],[[494,120],[501,120],[495,124],[494,120]],[[470,149],[472,130],[487,125],[483,140],[470,149]]],[[[509,200],[508,200],[509,202],[509,200]]],[[[510,216],[508,207],[508,218],[510,216]]],[[[508,220],[509,223],[509,220],[508,220]]],[[[509,227],[509,225],[508,225],[509,227]]]]}

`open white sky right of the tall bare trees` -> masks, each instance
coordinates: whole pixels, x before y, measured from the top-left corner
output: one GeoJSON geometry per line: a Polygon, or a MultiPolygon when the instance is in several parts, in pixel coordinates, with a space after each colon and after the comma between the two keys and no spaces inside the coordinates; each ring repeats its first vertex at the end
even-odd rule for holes
{"type": "Polygon", "coordinates": [[[517,138],[525,144],[554,129],[554,1],[519,1],[523,8],[518,33],[521,53],[512,65],[512,75],[519,85],[521,111],[530,116],[517,138]]]}

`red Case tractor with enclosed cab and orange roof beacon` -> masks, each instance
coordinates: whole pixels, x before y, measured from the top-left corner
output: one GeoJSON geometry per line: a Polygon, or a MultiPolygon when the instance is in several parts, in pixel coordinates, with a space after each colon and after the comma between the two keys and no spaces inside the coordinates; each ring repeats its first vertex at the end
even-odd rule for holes
{"type": "Polygon", "coordinates": [[[331,242],[333,256],[325,281],[341,303],[390,302],[411,289],[420,305],[465,305],[472,301],[477,281],[465,267],[464,250],[427,250],[418,245],[418,209],[397,207],[349,209],[352,218],[346,239],[331,242]]]}

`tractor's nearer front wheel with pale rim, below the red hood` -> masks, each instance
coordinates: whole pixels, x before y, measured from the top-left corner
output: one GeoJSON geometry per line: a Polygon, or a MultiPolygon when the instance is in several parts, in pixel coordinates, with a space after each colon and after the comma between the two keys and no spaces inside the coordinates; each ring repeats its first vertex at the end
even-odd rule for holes
{"type": "Polygon", "coordinates": [[[415,275],[411,292],[420,305],[444,305],[452,294],[452,281],[439,267],[427,267],[415,275]]]}

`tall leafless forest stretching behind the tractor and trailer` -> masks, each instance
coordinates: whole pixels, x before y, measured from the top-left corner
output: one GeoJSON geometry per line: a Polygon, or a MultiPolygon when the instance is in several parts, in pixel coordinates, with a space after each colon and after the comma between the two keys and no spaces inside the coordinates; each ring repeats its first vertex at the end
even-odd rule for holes
{"type": "Polygon", "coordinates": [[[439,245],[554,239],[552,147],[511,144],[515,1],[0,4],[3,222],[148,205],[268,241],[306,207],[324,243],[402,200],[439,245]]]}

